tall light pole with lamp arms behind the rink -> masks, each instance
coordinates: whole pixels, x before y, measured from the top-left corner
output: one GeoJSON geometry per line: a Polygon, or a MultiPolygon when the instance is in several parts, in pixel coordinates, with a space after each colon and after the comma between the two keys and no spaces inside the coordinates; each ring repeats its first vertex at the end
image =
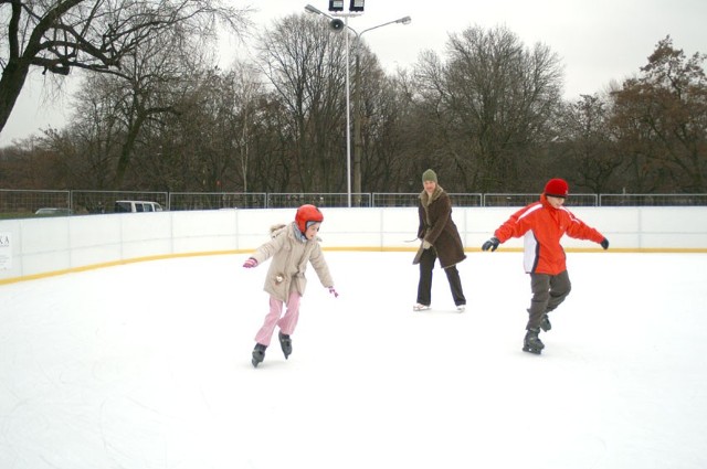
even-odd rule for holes
{"type": "MultiPolygon", "coordinates": [[[[355,159],[354,159],[354,192],[359,193],[361,192],[361,152],[362,152],[362,143],[361,143],[361,118],[360,118],[360,96],[361,96],[361,77],[360,77],[360,40],[361,40],[361,35],[363,35],[363,33],[378,29],[378,28],[382,28],[386,26],[388,24],[394,24],[394,23],[400,23],[400,24],[410,24],[410,22],[412,21],[410,19],[410,17],[404,17],[404,18],[400,18],[398,20],[394,21],[388,21],[387,23],[382,23],[382,24],[378,24],[376,26],[372,28],[368,28],[363,31],[361,31],[360,33],[357,32],[354,28],[349,26],[349,17],[357,17],[357,12],[358,13],[362,13],[363,11],[363,7],[362,7],[362,2],[361,6],[358,8],[354,8],[354,4],[356,2],[352,1],[351,2],[351,12],[350,13],[335,13],[337,17],[342,17],[344,21],[339,20],[338,18],[334,18],[327,13],[325,13],[324,11],[313,7],[312,4],[307,4],[305,7],[305,11],[307,11],[308,13],[314,13],[314,14],[319,14],[321,17],[326,17],[328,18],[330,21],[329,26],[335,30],[335,31],[342,31],[344,29],[347,29],[349,31],[351,31],[355,35],[356,35],[356,97],[355,97],[355,103],[356,103],[356,110],[355,110],[355,119],[354,119],[354,135],[356,138],[356,151],[355,151],[355,159]]],[[[350,85],[350,81],[351,81],[351,73],[350,73],[350,65],[349,65],[349,35],[348,33],[346,34],[346,171],[347,171],[347,194],[348,194],[348,206],[351,206],[351,85],[350,85]]],[[[360,202],[360,201],[359,201],[360,202]]],[[[357,203],[358,205],[359,203],[357,203]]]]}

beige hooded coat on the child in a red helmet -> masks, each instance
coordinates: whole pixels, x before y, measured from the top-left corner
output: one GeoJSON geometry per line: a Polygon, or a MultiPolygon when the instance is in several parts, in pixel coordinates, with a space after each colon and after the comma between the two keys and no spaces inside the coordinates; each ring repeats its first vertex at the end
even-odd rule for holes
{"type": "Polygon", "coordinates": [[[304,296],[307,287],[307,265],[312,263],[319,281],[325,287],[334,286],[329,267],[324,259],[319,238],[302,241],[296,234],[295,222],[271,228],[272,239],[258,247],[251,257],[261,265],[273,258],[265,276],[264,290],[281,301],[287,301],[292,291],[304,296]]]}

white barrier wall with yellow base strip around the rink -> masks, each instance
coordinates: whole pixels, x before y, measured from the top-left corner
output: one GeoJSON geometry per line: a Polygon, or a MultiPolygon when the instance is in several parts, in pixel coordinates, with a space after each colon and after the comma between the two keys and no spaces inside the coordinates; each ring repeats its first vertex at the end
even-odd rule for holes
{"type": "MultiPolygon", "coordinates": [[[[519,207],[455,207],[469,252],[519,207]]],[[[570,207],[618,252],[707,253],[707,206],[570,207]]],[[[296,209],[125,213],[0,221],[0,285],[151,258],[247,253],[296,209]]],[[[321,209],[325,249],[414,251],[415,207],[321,209]]],[[[601,249],[564,237],[568,251],[601,249]]],[[[510,239],[502,251],[521,247],[510,239]]]]}

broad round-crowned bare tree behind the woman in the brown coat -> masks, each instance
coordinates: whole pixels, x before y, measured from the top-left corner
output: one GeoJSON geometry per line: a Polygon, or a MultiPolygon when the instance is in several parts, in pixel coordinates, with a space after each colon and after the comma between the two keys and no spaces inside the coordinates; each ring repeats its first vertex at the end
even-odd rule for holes
{"type": "Polygon", "coordinates": [[[557,54],[542,44],[526,49],[506,28],[476,26],[450,35],[446,57],[425,53],[415,68],[420,111],[436,126],[431,154],[465,190],[518,188],[560,103],[557,54]]]}

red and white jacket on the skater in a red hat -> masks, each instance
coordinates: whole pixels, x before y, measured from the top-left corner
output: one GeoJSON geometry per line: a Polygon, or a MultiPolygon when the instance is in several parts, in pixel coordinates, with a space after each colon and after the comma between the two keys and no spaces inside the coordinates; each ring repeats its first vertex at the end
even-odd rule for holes
{"type": "Polygon", "coordinates": [[[540,195],[538,202],[520,209],[496,230],[494,236],[505,243],[525,236],[524,267],[528,274],[558,275],[567,270],[560,238],[567,234],[578,239],[601,243],[604,236],[561,206],[555,209],[540,195]]]}

